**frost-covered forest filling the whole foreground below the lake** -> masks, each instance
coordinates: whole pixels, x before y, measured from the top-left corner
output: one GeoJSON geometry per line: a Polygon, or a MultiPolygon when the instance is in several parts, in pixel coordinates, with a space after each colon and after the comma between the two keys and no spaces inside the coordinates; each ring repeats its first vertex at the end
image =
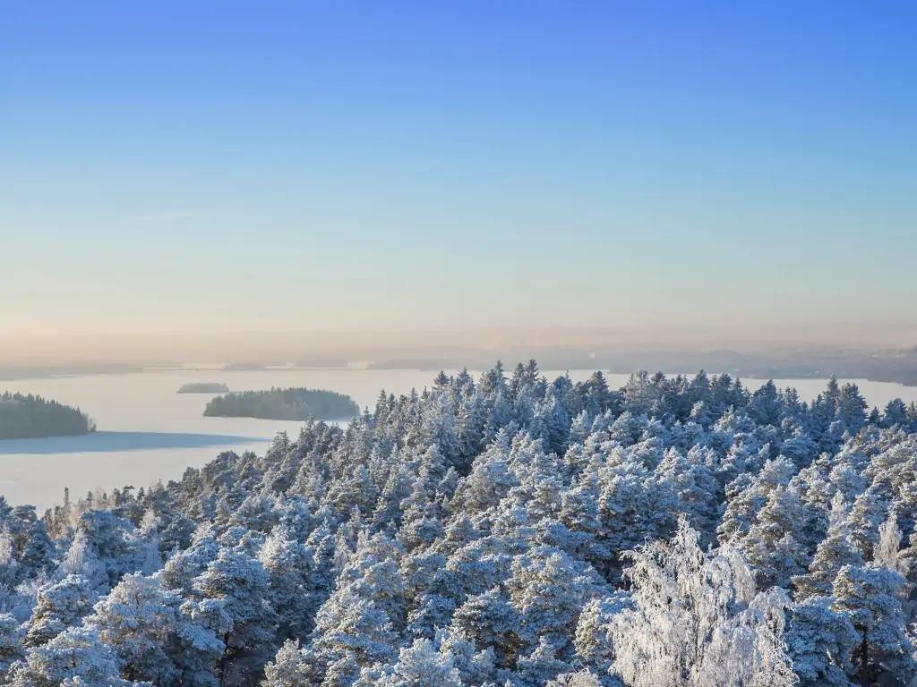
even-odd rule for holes
{"type": "Polygon", "coordinates": [[[440,373],[39,518],[15,687],[784,687],[917,676],[917,408],[730,376],[440,373]]]}

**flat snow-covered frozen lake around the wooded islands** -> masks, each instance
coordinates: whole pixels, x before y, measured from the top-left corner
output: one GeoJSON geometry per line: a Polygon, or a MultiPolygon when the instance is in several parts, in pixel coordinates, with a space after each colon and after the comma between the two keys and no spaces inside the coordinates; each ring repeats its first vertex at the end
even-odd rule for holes
{"type": "MultiPolygon", "coordinates": [[[[548,378],[561,372],[546,371],[548,378]]],[[[591,370],[572,370],[584,379],[591,370]]],[[[39,512],[63,498],[102,487],[146,486],[178,479],[188,466],[200,467],[222,451],[260,453],[278,431],[291,436],[302,423],[249,418],[204,418],[214,394],[178,394],[189,382],[222,382],[234,391],[271,387],[327,388],[349,394],[359,406],[375,404],[381,388],[396,394],[428,386],[434,373],[419,370],[271,369],[258,371],[177,370],[132,375],[94,375],[0,381],[0,392],[21,391],[78,406],[99,431],[82,437],[0,441],[0,495],[39,512]]],[[[607,375],[620,387],[627,375],[607,375]]],[[[814,398],[825,380],[775,379],[814,398]]],[[[854,380],[867,402],[883,407],[891,398],[917,400],[917,387],[854,380]]],[[[757,388],[764,380],[746,380],[757,388]]]]}

